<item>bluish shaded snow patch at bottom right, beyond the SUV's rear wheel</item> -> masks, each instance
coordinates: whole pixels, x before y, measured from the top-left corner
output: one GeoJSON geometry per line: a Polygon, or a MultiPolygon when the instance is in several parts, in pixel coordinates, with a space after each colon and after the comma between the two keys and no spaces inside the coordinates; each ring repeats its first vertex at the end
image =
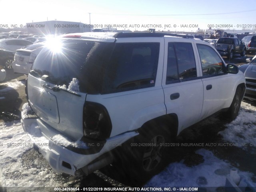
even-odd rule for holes
{"type": "MultiPolygon", "coordinates": [[[[234,168],[224,160],[220,160],[206,149],[196,151],[204,157],[204,162],[188,167],[181,162],[171,163],[163,172],[154,176],[146,186],[164,187],[222,187],[225,186],[226,175],[234,168]]],[[[238,171],[250,180],[249,172],[238,171]]]]}

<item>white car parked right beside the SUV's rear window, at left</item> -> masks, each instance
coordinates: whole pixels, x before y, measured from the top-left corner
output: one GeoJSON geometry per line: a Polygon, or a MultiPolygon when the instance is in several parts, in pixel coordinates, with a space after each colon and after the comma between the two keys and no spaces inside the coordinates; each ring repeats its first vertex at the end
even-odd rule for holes
{"type": "Polygon", "coordinates": [[[12,64],[13,72],[27,75],[43,46],[44,43],[37,43],[27,46],[24,49],[16,50],[14,62],[12,64]]]}

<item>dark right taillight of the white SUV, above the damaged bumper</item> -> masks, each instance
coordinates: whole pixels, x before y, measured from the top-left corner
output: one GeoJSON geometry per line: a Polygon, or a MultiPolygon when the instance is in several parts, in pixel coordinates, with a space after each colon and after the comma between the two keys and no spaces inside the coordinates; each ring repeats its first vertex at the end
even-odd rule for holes
{"type": "Polygon", "coordinates": [[[83,112],[84,136],[104,140],[109,138],[112,124],[106,108],[102,104],[86,102],[83,112]]]}

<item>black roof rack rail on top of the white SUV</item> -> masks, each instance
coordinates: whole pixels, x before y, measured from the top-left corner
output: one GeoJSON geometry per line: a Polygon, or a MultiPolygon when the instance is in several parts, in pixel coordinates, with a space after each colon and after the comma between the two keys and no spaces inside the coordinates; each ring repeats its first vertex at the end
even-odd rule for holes
{"type": "Polygon", "coordinates": [[[130,32],[130,33],[116,33],[114,38],[128,38],[128,37],[164,37],[164,36],[172,36],[172,37],[182,37],[182,38],[194,38],[191,35],[181,35],[181,34],[172,34],[172,33],[146,33],[146,32],[130,32]]]}

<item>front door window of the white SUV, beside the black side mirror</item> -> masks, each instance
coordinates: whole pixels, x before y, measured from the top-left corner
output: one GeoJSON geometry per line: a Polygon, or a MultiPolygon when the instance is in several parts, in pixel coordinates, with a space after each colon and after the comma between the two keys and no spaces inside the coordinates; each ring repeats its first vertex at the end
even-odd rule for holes
{"type": "Polygon", "coordinates": [[[196,44],[201,60],[203,76],[223,74],[223,63],[216,51],[208,45],[196,44]]]}

